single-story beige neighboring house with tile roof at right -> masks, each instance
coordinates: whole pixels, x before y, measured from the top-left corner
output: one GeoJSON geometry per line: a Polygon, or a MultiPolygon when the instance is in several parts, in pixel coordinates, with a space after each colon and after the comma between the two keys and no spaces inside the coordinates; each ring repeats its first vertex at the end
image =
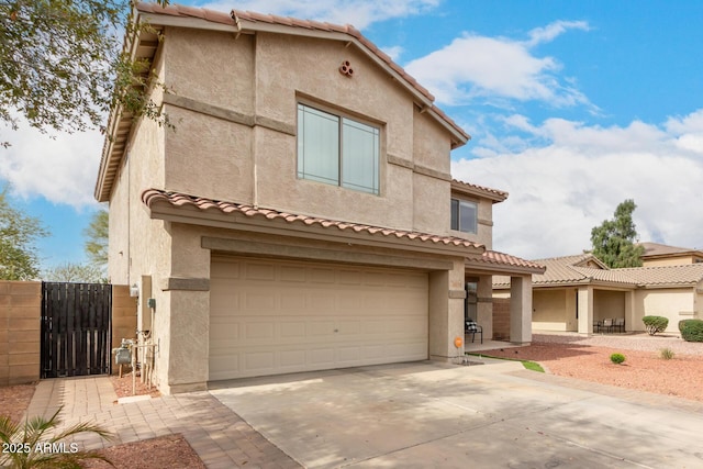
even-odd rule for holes
{"type": "MultiPolygon", "coordinates": [[[[703,319],[703,264],[609,269],[591,254],[535,260],[547,268],[533,276],[533,331],[588,334],[605,319],[624,319],[626,331],[644,331],[646,315],[679,321],[703,319]]],[[[507,279],[493,278],[495,298],[506,298],[507,279]]]]}

